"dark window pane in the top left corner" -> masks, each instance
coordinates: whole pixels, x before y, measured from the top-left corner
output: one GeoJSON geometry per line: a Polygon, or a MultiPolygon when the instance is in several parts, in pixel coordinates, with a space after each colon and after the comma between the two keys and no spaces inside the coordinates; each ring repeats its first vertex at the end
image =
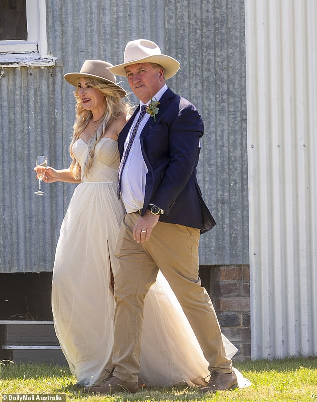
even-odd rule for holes
{"type": "Polygon", "coordinates": [[[0,41],[27,41],[26,0],[1,0],[0,41]]]}

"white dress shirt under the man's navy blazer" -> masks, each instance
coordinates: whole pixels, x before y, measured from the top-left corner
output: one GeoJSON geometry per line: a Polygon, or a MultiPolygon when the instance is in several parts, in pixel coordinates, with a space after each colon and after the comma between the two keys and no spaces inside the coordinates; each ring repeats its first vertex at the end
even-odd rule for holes
{"type": "MultiPolygon", "coordinates": [[[[153,96],[152,99],[156,98],[157,101],[159,101],[166,90],[167,85],[165,84],[157,92],[157,94],[153,96]]],[[[147,104],[150,104],[150,101],[147,104]]],[[[144,105],[144,103],[140,101],[140,107],[142,107],[142,105],[144,105]]],[[[133,132],[133,128],[139,117],[139,114],[140,112],[136,114],[130,130],[127,134],[124,143],[124,152],[129,142],[130,136],[133,132]]],[[[146,173],[148,172],[148,169],[142,155],[140,134],[148,119],[153,119],[153,117],[151,117],[148,113],[145,113],[145,116],[138,126],[136,136],[134,138],[130,153],[127,157],[127,161],[122,172],[121,196],[127,213],[136,212],[139,209],[142,209],[144,204],[146,173]]]]}

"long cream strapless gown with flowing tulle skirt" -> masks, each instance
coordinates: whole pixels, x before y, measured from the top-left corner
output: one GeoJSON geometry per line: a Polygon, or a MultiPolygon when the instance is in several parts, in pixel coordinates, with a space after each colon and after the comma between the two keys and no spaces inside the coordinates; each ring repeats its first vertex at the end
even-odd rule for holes
{"type": "MultiPolygon", "coordinates": [[[[88,146],[73,152],[83,166],[88,146]]],[[[124,206],[118,201],[117,142],[101,138],[92,168],[71,198],[60,229],[52,283],[54,325],[71,372],[90,385],[110,365],[115,302],[110,268],[116,271],[116,239],[124,206]]],[[[228,357],[237,349],[223,335],[228,357]]],[[[140,378],[150,385],[186,381],[204,385],[209,375],[198,341],[164,276],[159,273],[145,298],[140,378]]],[[[248,386],[237,370],[239,386],[248,386]]]]}

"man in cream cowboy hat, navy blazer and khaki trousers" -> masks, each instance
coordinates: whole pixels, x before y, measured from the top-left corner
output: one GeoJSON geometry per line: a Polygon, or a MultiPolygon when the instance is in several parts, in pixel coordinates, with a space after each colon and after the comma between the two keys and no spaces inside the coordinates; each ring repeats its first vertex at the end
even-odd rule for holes
{"type": "Polygon", "coordinates": [[[116,250],[114,371],[94,392],[137,391],[144,298],[159,269],[209,362],[211,378],[202,391],[237,387],[212,302],[198,277],[199,234],[215,222],[196,178],[202,119],[165,84],[179,67],[154,42],[138,39],[126,45],[124,63],[109,68],[127,77],[140,107],[118,140],[118,196],[127,214],[116,250]]]}

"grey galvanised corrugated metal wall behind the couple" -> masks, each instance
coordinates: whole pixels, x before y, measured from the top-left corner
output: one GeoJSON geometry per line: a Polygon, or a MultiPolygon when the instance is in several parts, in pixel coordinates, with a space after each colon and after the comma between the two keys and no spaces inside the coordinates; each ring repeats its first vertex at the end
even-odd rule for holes
{"type": "Polygon", "coordinates": [[[243,0],[46,0],[46,12],[55,67],[4,68],[0,79],[0,272],[52,270],[74,186],[44,184],[36,196],[32,169],[37,154],[57,168],[70,163],[74,97],[63,74],[89,58],[120,63],[125,44],[141,37],[181,62],[168,85],[205,121],[199,181],[218,225],[201,238],[200,262],[247,264],[243,0]]]}

